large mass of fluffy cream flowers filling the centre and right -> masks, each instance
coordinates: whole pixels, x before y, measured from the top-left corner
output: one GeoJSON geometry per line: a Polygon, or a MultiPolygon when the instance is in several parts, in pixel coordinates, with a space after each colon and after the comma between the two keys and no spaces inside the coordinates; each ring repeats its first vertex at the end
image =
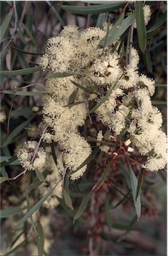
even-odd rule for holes
{"type": "MultiPolygon", "coordinates": [[[[127,128],[128,138],[147,158],[147,170],[157,171],[166,164],[162,116],[150,99],[155,92],[155,81],[139,74],[135,49],[131,49],[131,63],[124,65],[118,52],[112,52],[112,45],[100,46],[106,29],[105,25],[103,29],[90,27],[80,32],[75,26],[64,27],[58,37],[48,39],[41,58],[42,69],[76,72],[46,80],[40,125],[41,130],[48,125],[43,140],[58,142],[60,146],[58,170],[62,174],[68,168],[72,180],[84,174],[86,166],[74,171],[91,153],[90,145],[78,130],[86,121],[90,102],[91,106],[100,105],[95,112],[112,135],[118,136],[127,128]],[[75,83],[88,90],[78,88],[75,83]]],[[[102,149],[106,152],[108,148],[102,149]]]]}

